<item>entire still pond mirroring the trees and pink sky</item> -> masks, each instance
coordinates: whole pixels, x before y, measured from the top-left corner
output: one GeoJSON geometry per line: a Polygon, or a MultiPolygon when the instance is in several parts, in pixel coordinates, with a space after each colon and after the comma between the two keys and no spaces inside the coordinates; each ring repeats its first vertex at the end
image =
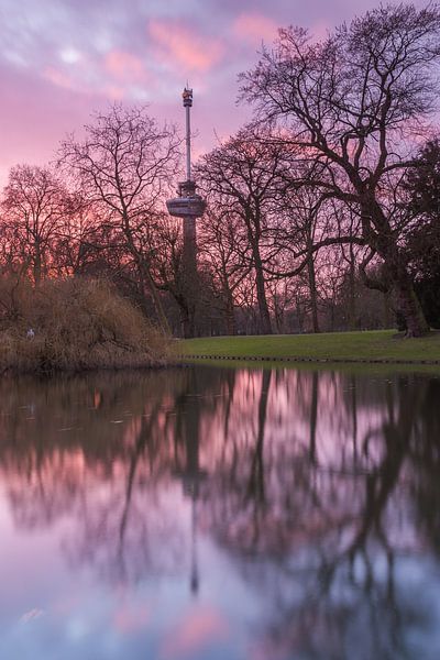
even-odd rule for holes
{"type": "Polygon", "coordinates": [[[437,660],[440,378],[0,382],[0,658],[437,660]]]}

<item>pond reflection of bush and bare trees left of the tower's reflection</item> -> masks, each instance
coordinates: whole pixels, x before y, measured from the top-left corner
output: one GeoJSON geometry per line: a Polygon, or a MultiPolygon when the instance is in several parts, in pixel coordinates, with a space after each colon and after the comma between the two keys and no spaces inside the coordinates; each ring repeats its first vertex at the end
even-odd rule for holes
{"type": "Polygon", "coordinates": [[[182,370],[172,388],[168,372],[3,383],[0,470],[16,525],[74,516],[70,560],[112,581],[178,570],[183,531],[162,490],[180,460],[176,409],[199,381],[182,370]]]}

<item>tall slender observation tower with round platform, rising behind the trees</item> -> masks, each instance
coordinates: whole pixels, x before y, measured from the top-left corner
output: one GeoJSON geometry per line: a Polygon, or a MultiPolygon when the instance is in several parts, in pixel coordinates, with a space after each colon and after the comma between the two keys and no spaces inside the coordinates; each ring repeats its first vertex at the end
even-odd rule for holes
{"type": "Polygon", "coordinates": [[[194,337],[196,321],[197,296],[197,237],[196,219],[204,215],[206,202],[196,194],[196,182],[191,178],[191,129],[190,109],[193,107],[193,89],[183,92],[186,112],[186,180],[178,186],[178,197],[166,202],[168,213],[183,219],[184,250],[182,260],[183,294],[186,309],[182,310],[182,330],[184,337],[194,337]]]}

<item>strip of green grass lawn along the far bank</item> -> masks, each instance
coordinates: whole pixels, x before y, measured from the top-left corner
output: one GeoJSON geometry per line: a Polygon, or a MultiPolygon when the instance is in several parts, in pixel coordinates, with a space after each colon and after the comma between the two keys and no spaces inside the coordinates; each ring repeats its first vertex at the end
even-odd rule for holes
{"type": "Polygon", "coordinates": [[[180,359],[195,356],[272,358],[327,361],[440,362],[440,332],[420,339],[402,339],[395,330],[329,332],[322,334],[275,334],[254,337],[207,337],[176,342],[180,359]]]}

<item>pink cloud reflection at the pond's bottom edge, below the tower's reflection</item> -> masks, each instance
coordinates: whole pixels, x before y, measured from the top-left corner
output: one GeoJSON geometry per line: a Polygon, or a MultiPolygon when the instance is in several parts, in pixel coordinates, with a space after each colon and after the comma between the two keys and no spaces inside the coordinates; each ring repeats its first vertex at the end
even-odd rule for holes
{"type": "Polygon", "coordinates": [[[218,612],[207,607],[195,609],[167,636],[161,657],[166,660],[182,658],[227,636],[228,626],[218,612]]]}

